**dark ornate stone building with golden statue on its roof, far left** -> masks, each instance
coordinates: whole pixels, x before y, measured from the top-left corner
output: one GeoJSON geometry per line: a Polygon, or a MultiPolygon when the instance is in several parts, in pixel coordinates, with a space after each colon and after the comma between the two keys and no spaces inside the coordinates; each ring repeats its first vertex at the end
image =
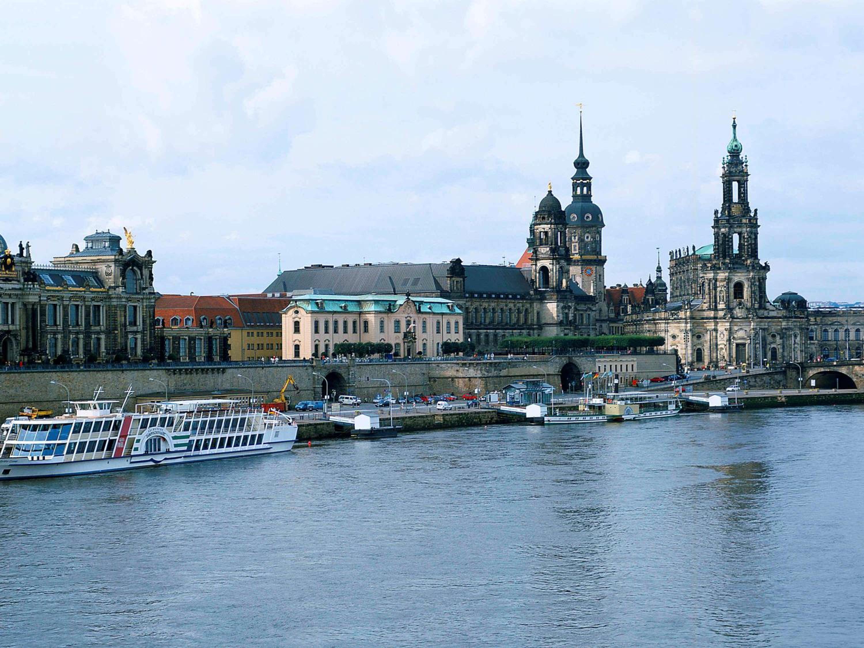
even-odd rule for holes
{"type": "Polygon", "coordinates": [[[84,238],[51,264],[35,264],[0,237],[0,361],[141,360],[155,351],[153,254],[129,232],[127,249],[111,232],[84,238]]]}

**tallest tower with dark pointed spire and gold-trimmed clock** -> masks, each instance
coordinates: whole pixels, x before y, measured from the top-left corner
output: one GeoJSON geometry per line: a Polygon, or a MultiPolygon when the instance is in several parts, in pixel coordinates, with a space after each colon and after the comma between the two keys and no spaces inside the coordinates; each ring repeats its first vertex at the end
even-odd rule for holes
{"type": "Polygon", "coordinates": [[[594,205],[588,158],[582,147],[582,115],[579,113],[579,157],[573,161],[573,201],[567,215],[567,240],[570,247],[570,278],[588,295],[603,298],[605,287],[602,231],[603,213],[594,205]]]}

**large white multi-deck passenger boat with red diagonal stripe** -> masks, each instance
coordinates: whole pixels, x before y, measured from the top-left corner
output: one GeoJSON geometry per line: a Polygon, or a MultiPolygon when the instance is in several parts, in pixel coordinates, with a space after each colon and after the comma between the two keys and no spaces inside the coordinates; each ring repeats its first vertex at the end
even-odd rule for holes
{"type": "Polygon", "coordinates": [[[228,399],[145,403],[135,413],[115,403],[77,401],[63,416],[6,419],[0,480],[273,454],[290,450],[297,436],[295,422],[282,412],[228,399]]]}

